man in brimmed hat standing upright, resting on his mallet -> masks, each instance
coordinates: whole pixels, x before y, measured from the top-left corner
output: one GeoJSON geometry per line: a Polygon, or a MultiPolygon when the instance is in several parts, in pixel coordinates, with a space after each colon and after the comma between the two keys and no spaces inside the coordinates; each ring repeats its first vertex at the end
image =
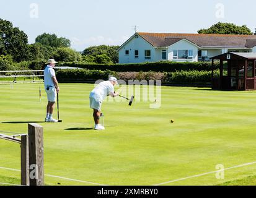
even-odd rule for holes
{"type": "Polygon", "coordinates": [[[57,62],[55,59],[49,59],[46,63],[44,71],[44,79],[45,79],[45,92],[48,98],[48,105],[46,106],[46,123],[58,123],[58,120],[53,119],[53,110],[55,108],[56,102],[56,92],[60,92],[60,87],[58,85],[58,81],[56,79],[54,67],[57,62]]]}

